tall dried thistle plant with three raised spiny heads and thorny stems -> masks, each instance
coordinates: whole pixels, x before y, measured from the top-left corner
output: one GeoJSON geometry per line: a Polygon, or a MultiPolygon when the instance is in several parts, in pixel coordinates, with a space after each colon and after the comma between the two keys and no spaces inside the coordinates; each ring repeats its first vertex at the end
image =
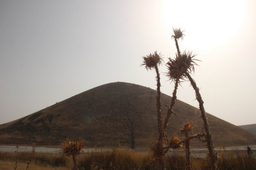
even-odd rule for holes
{"type": "Polygon", "coordinates": [[[194,65],[196,64],[196,61],[199,61],[197,59],[194,59],[196,55],[192,53],[191,51],[184,51],[183,53],[180,52],[180,48],[178,45],[178,40],[182,40],[184,37],[183,31],[181,29],[173,29],[173,35],[172,38],[175,41],[175,45],[177,48],[177,54],[174,59],[169,58],[168,63],[166,64],[168,72],[167,72],[167,77],[169,77],[169,80],[175,83],[174,90],[172,93],[172,99],[170,106],[168,106],[168,111],[167,115],[165,117],[164,124],[162,124],[162,113],[161,113],[161,103],[160,103],[160,74],[158,70],[158,66],[162,63],[162,58],[157,52],[153,54],[149,54],[147,56],[144,56],[143,59],[143,66],[147,69],[147,71],[150,69],[155,69],[156,70],[156,80],[157,80],[157,123],[158,123],[158,131],[159,131],[159,139],[158,141],[153,142],[153,146],[151,147],[153,153],[153,157],[155,160],[159,162],[159,168],[160,169],[165,169],[165,162],[164,162],[164,155],[168,151],[168,149],[173,148],[173,147],[178,147],[179,145],[186,143],[188,144],[189,147],[189,140],[193,138],[198,138],[201,135],[204,136],[204,134],[198,134],[191,136],[188,138],[186,136],[186,139],[183,141],[179,141],[176,144],[170,144],[168,136],[166,134],[166,128],[168,127],[169,121],[170,121],[170,115],[175,114],[173,112],[173,106],[175,104],[175,100],[177,99],[177,89],[178,85],[181,83],[181,81],[189,80],[192,87],[194,88],[196,92],[196,99],[198,100],[199,103],[199,109],[201,111],[201,117],[203,119],[204,123],[204,129],[205,129],[205,136],[206,136],[206,142],[207,142],[207,148],[209,150],[209,160],[210,160],[210,165],[212,170],[217,169],[217,153],[214,152],[214,145],[213,145],[213,140],[211,136],[211,132],[209,129],[209,124],[207,122],[206,118],[206,112],[204,110],[203,106],[203,100],[201,98],[201,95],[199,93],[199,89],[196,86],[196,83],[191,77],[191,73],[194,72],[194,65]],[[164,138],[167,138],[167,146],[164,144],[164,138]]]}

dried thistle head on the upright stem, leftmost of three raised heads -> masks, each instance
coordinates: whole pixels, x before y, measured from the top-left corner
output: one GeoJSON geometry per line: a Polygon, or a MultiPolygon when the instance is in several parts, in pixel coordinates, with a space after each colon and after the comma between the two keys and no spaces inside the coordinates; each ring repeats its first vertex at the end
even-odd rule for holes
{"type": "Polygon", "coordinates": [[[143,56],[143,64],[141,64],[141,66],[145,66],[147,70],[151,70],[157,65],[162,64],[163,59],[161,57],[161,54],[158,54],[157,51],[155,51],[153,54],[150,53],[147,56],[143,56]]]}

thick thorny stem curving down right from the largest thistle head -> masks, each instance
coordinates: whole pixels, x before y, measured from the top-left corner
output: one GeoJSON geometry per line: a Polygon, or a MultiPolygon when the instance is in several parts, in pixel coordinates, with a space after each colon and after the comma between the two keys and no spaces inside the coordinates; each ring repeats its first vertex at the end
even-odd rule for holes
{"type": "Polygon", "coordinates": [[[217,159],[216,159],[216,156],[214,153],[214,144],[213,144],[213,140],[212,140],[212,134],[210,132],[209,124],[208,124],[207,117],[206,117],[206,112],[204,110],[204,102],[199,93],[199,88],[196,86],[196,82],[190,76],[190,74],[188,72],[186,72],[186,77],[188,77],[188,79],[190,80],[190,83],[196,93],[196,99],[199,103],[199,109],[201,111],[201,116],[202,116],[202,119],[204,122],[204,130],[206,131],[206,142],[207,142],[207,147],[209,150],[209,158],[210,158],[210,162],[211,162],[211,168],[212,168],[212,170],[216,170],[217,169],[217,159]]]}

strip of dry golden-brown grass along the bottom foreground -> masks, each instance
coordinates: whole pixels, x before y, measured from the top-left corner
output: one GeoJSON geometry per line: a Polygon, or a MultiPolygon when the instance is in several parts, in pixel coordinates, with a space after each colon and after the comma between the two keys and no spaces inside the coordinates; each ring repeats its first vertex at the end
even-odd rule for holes
{"type": "MultiPolygon", "coordinates": [[[[110,152],[95,152],[83,154],[78,158],[80,170],[154,170],[156,164],[151,161],[148,152],[136,152],[113,149],[110,152]]],[[[27,162],[31,152],[0,153],[0,170],[26,170],[27,162]]],[[[165,157],[168,170],[184,169],[185,157],[181,154],[174,154],[165,157]]],[[[194,170],[207,170],[208,164],[205,158],[192,158],[194,170]]],[[[68,170],[72,169],[71,157],[64,157],[60,154],[34,154],[30,170],[68,170]]],[[[254,156],[241,152],[219,153],[220,170],[254,170],[256,159],[254,156]]]]}

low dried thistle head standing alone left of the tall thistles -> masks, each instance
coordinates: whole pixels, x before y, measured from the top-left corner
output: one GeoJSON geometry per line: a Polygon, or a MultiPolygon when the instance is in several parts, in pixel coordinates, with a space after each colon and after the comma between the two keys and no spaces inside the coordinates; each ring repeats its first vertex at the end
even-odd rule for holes
{"type": "Polygon", "coordinates": [[[81,139],[78,139],[76,141],[71,141],[70,139],[63,140],[61,143],[61,149],[63,155],[65,156],[71,156],[73,154],[80,155],[82,154],[84,148],[84,141],[81,139]]]}

